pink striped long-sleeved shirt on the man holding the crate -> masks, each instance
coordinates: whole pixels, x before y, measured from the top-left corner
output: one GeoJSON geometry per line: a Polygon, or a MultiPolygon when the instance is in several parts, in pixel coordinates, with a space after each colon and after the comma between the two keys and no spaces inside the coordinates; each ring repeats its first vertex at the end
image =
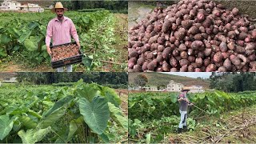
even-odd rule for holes
{"type": "Polygon", "coordinates": [[[50,38],[53,38],[53,46],[71,42],[71,36],[75,42],[79,42],[78,33],[70,18],[64,17],[62,22],[58,18],[50,20],[46,31],[46,46],[50,46],[50,38]]]}

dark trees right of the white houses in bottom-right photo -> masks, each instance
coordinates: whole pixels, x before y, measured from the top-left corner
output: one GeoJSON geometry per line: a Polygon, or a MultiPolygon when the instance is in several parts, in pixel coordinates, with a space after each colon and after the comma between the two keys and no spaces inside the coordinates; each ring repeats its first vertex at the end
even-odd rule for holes
{"type": "Polygon", "coordinates": [[[210,88],[226,92],[256,90],[255,73],[212,73],[210,88]]]}

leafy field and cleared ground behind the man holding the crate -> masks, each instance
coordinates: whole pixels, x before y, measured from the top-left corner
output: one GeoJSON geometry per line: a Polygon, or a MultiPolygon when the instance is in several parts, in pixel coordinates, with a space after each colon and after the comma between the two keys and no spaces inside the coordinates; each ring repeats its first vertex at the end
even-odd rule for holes
{"type": "MultiPolygon", "coordinates": [[[[127,54],[127,14],[108,10],[67,11],[78,31],[84,58],[74,71],[124,71],[127,54]]],[[[0,70],[54,71],[46,52],[46,26],[56,15],[0,13],[0,70]]]]}

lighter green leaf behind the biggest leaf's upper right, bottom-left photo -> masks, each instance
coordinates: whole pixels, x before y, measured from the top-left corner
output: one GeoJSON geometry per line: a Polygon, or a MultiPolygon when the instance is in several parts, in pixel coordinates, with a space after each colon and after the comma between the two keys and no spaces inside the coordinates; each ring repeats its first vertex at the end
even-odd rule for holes
{"type": "Polygon", "coordinates": [[[118,94],[111,88],[102,86],[102,96],[106,98],[108,102],[114,104],[114,106],[119,106],[121,104],[121,99],[119,98],[118,94]]]}

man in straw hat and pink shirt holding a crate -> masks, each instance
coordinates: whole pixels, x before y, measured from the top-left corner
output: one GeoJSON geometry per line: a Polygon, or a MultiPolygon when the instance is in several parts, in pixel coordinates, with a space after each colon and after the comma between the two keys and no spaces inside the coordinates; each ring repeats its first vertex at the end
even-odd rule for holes
{"type": "MultiPolygon", "coordinates": [[[[56,18],[50,20],[47,26],[46,32],[46,47],[48,54],[50,51],[50,39],[53,39],[53,46],[62,45],[71,42],[71,35],[74,41],[77,42],[80,48],[80,43],[78,39],[78,33],[75,29],[74,23],[70,18],[64,17],[64,12],[67,9],[62,6],[61,2],[56,2],[55,7],[51,9],[51,12],[57,15],[56,18]]],[[[66,66],[67,72],[72,72],[72,65],[66,66]]],[[[58,72],[63,72],[64,67],[59,67],[58,72]]]]}

